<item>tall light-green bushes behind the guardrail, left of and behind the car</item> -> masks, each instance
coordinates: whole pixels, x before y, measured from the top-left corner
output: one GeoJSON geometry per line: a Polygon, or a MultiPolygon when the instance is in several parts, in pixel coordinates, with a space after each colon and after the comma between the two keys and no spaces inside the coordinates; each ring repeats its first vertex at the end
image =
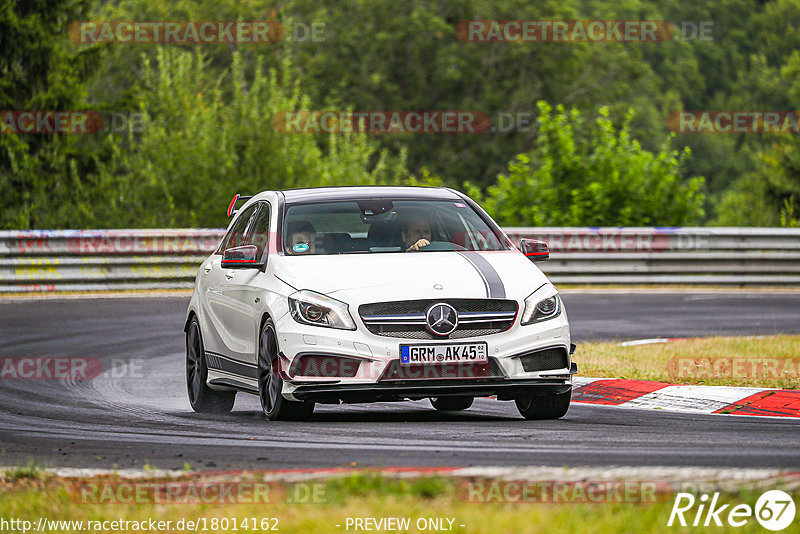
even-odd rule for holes
{"type": "MultiPolygon", "coordinates": [[[[57,138],[46,145],[47,157],[41,150],[32,156],[22,141],[12,146],[4,176],[33,190],[4,206],[8,227],[218,227],[227,222],[233,192],[406,179],[404,154],[388,154],[365,134],[320,139],[273,127],[279,113],[310,104],[260,61],[247,69],[235,53],[220,74],[199,52],[164,47],[142,64],[132,103],[136,127],[127,134],[57,138]],[[95,142],[99,150],[87,156],[93,165],[78,172],[67,154],[95,142]],[[42,179],[48,174],[58,180],[42,179]]],[[[283,69],[291,69],[288,62],[283,69]]]]}

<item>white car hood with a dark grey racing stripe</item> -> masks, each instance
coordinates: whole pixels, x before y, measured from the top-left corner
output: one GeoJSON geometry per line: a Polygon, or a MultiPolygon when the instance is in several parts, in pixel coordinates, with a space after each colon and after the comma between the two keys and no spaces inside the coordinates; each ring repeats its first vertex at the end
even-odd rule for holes
{"type": "Polygon", "coordinates": [[[523,299],[547,281],[517,251],[283,256],[275,262],[275,275],[296,289],[359,303],[437,297],[523,299]]]}

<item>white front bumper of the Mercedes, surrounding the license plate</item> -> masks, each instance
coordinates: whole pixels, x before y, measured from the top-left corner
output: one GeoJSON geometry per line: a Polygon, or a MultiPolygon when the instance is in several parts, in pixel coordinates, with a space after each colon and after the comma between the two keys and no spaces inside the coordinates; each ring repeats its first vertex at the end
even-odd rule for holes
{"type": "Polygon", "coordinates": [[[361,325],[355,331],[300,325],[288,314],[279,318],[276,326],[286,372],[282,393],[290,400],[380,402],[446,395],[497,395],[500,399],[511,399],[523,391],[535,390],[541,394],[569,391],[576,372],[571,361],[566,313],[540,324],[520,326],[516,323],[506,332],[457,340],[458,343],[485,342],[487,356],[497,372],[416,380],[387,380],[387,371],[399,363],[400,345],[430,344],[431,341],[378,336],[365,331],[361,325]],[[525,370],[521,356],[549,348],[560,348],[568,354],[563,366],[525,370]],[[296,372],[297,366],[293,364],[297,358],[308,354],[352,358],[361,363],[354,376],[304,376],[296,372]]]}

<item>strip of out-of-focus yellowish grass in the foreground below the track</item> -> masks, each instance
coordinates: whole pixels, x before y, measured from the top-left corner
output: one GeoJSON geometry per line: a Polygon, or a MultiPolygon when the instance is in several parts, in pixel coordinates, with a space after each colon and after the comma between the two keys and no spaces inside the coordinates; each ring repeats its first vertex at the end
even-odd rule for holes
{"type": "MultiPolygon", "coordinates": [[[[240,479],[242,477],[239,477],[240,479]]],[[[280,532],[327,533],[353,532],[345,530],[347,518],[409,517],[409,532],[419,532],[414,523],[419,518],[453,518],[453,532],[465,534],[522,534],[522,533],[640,533],[640,532],[760,532],[755,520],[743,528],[713,527],[681,529],[666,526],[674,496],[652,503],[498,503],[467,502],[466,493],[459,488],[464,480],[442,477],[402,479],[375,474],[356,474],[334,478],[323,484],[324,500],[315,503],[288,504],[163,504],[137,502],[133,504],[84,504],[80,484],[131,481],[118,477],[101,477],[70,481],[51,477],[45,481],[26,477],[0,483],[0,517],[38,520],[39,517],[58,520],[173,520],[180,518],[277,518],[280,532]],[[336,525],[341,525],[337,527],[336,525]],[[464,525],[461,527],[460,525],[464,525]]],[[[731,504],[754,505],[758,493],[748,491],[725,493],[721,501],[731,504]]],[[[795,495],[795,500],[796,500],[795,495]]],[[[730,508],[730,507],[729,507],[730,508]]],[[[688,517],[688,515],[687,515],[688,517]]],[[[797,522],[795,522],[797,524],[797,522]]],[[[51,532],[68,532],[52,530],[51,532]]],[[[231,530],[226,530],[230,532],[231,530]]],[[[218,529],[217,532],[223,532],[218,529]]],[[[245,532],[240,530],[239,532],[245,532]]],[[[248,532],[253,532],[252,530],[248,532]]],[[[798,532],[789,528],[784,532],[798,532]]]]}

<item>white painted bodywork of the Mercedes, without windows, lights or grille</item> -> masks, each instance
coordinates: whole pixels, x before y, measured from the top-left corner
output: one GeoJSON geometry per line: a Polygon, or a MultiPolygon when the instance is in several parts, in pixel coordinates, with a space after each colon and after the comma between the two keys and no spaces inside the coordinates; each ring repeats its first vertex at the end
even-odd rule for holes
{"type": "MultiPolygon", "coordinates": [[[[280,228],[278,219],[283,213],[280,195],[261,193],[242,206],[239,213],[254,203],[267,202],[271,209],[270,228],[280,228]]],[[[234,217],[231,226],[235,220],[234,217]]],[[[485,341],[488,356],[497,362],[506,379],[529,380],[534,387],[536,380],[554,377],[571,387],[571,375],[575,371],[569,357],[563,368],[526,372],[522,367],[520,355],[552,347],[563,348],[571,354],[571,342],[563,306],[555,318],[520,325],[525,298],[548,280],[518,250],[289,256],[278,250],[279,240],[274,231],[271,232],[263,270],[223,268],[220,253],[209,256],[198,270],[187,310],[187,324],[193,315],[198,317],[205,351],[219,363],[214,368],[209,365],[209,387],[257,390],[258,338],[265,316],[274,321],[287,371],[303,353],[362,361],[353,377],[336,380],[290,377],[293,380],[287,380],[282,390],[283,396],[290,400],[297,400],[298,388],[309,384],[334,382],[367,387],[377,384],[387,366],[400,357],[400,345],[417,343],[485,341]],[[480,264],[477,267],[476,262],[480,264]],[[289,313],[288,302],[288,297],[297,290],[311,290],[346,303],[357,329],[340,330],[297,322],[289,313]],[[517,302],[518,312],[512,326],[501,333],[453,341],[377,335],[367,329],[358,311],[359,306],[368,303],[487,299],[490,296],[517,302]]]]}

